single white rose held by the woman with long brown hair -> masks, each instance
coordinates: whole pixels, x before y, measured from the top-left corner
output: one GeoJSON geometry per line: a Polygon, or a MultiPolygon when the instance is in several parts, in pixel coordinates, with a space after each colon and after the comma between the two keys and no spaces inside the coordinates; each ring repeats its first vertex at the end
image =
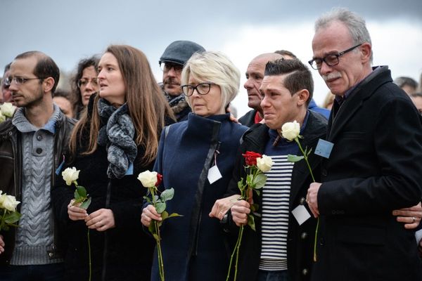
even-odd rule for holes
{"type": "MultiPolygon", "coordinates": [[[[91,197],[88,197],[87,190],[82,186],[77,184],[77,179],[79,178],[79,171],[75,167],[66,168],[62,172],[63,180],[66,182],[66,185],[75,185],[74,200],[72,200],[72,206],[77,206],[82,209],[88,209],[91,204],[91,197]]],[[[88,259],[89,259],[89,281],[91,281],[92,269],[91,269],[91,240],[89,239],[89,228],[87,233],[88,239],[88,259]]]]}

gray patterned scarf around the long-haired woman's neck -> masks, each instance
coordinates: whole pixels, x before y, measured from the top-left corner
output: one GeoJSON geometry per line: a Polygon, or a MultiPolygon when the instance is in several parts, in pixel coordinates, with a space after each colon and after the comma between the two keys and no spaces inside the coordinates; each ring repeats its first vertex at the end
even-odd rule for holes
{"type": "Polygon", "coordinates": [[[106,146],[108,178],[122,178],[138,153],[134,124],[127,112],[127,103],[116,108],[103,98],[98,100],[98,113],[106,124],[98,132],[98,144],[106,146]]]}

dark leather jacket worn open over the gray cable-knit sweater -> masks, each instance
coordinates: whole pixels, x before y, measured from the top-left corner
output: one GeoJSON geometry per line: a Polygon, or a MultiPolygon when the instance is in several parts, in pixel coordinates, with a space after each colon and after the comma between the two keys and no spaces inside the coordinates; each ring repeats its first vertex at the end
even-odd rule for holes
{"type": "MultiPolygon", "coordinates": [[[[62,162],[64,150],[68,147],[70,133],[75,125],[75,120],[60,114],[56,122],[56,133],[54,136],[53,155],[54,163],[51,171],[51,186],[54,185],[56,168],[62,162]]],[[[8,119],[0,124],[0,190],[8,195],[13,195],[16,200],[22,202],[22,148],[21,134],[8,119]]],[[[20,209],[20,205],[18,205],[20,209]]],[[[53,220],[53,217],[51,217],[53,220]]],[[[55,223],[51,221],[51,223],[55,223]]],[[[57,259],[60,256],[58,249],[58,234],[54,227],[53,251],[49,251],[50,259],[57,259]]],[[[15,228],[2,232],[4,237],[5,251],[0,254],[0,266],[8,264],[11,260],[13,248],[15,247],[15,228]]]]}

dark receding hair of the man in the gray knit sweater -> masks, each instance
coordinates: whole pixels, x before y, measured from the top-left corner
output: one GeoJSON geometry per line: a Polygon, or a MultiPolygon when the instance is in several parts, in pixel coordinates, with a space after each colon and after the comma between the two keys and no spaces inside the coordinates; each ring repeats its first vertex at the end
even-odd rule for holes
{"type": "MultiPolygon", "coordinates": [[[[60,78],[60,70],[58,69],[58,66],[56,65],[56,63],[54,62],[52,58],[50,58],[48,55],[40,51],[28,51],[25,53],[21,53],[19,55],[16,55],[15,60],[20,60],[23,58],[30,58],[30,57],[37,58],[37,65],[35,65],[35,68],[34,68],[34,75],[36,77],[39,77],[39,78],[52,77],[54,79],[53,89],[51,89],[51,93],[54,93],[58,85],[58,79],[60,78]]],[[[39,81],[39,84],[41,83],[42,81],[39,81]]]]}

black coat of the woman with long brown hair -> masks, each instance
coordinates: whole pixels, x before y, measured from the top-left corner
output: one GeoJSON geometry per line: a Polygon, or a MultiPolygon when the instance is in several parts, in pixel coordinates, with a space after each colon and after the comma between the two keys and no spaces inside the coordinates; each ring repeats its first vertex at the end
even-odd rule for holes
{"type": "MultiPolygon", "coordinates": [[[[86,144],[88,138],[89,133],[84,131],[82,143],[86,144]]],[[[79,151],[82,146],[78,144],[79,151]]],[[[77,183],[84,186],[92,198],[88,214],[106,208],[113,211],[115,218],[115,228],[104,232],[89,232],[92,281],[150,280],[155,242],[141,226],[143,196],[147,190],[137,180],[137,176],[147,169],[152,171],[153,163],[140,164],[143,154],[143,148],[139,146],[133,174],[121,179],[108,178],[107,152],[101,145],[91,155],[78,153],[75,160],[61,169],[63,171],[66,167],[75,166],[80,170],[77,183]]],[[[52,195],[55,216],[68,237],[65,280],[88,280],[88,228],[84,221],[71,221],[68,216],[68,204],[73,198],[75,186],[65,184],[61,171],[52,195]]]]}

